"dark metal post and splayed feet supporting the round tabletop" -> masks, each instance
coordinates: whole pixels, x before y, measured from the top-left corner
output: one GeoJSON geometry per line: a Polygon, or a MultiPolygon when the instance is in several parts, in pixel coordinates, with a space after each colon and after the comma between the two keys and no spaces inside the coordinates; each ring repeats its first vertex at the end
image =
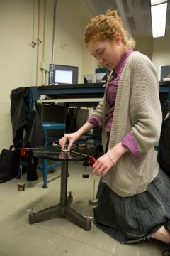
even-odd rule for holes
{"type": "Polygon", "coordinates": [[[70,207],[72,203],[72,195],[67,197],[67,178],[68,178],[68,161],[62,161],[62,169],[61,169],[61,190],[60,190],[60,203],[56,206],[51,206],[44,210],[40,210],[38,213],[31,212],[29,214],[29,223],[35,223],[42,220],[46,220],[52,216],[57,217],[68,217],[77,225],[80,225],[81,228],[85,230],[91,229],[91,220],[88,218],[84,218],[84,216],[80,215],[70,207]]]}

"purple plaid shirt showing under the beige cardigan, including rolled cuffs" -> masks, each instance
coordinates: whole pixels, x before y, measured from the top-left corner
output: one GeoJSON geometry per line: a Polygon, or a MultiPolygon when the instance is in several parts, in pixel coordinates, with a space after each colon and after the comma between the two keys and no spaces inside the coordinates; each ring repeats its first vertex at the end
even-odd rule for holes
{"type": "MultiPolygon", "coordinates": [[[[118,63],[117,67],[113,71],[112,75],[112,80],[108,84],[107,89],[106,89],[106,99],[108,102],[108,105],[110,107],[108,113],[106,114],[106,119],[105,119],[105,129],[106,132],[111,132],[111,125],[113,122],[113,112],[115,108],[115,97],[118,89],[118,82],[120,80],[120,75],[123,71],[123,68],[125,66],[125,62],[128,58],[128,56],[132,53],[132,49],[128,49],[120,59],[120,62],[118,63]]],[[[87,119],[87,122],[90,124],[93,124],[95,127],[101,127],[102,122],[101,120],[95,116],[92,115],[89,119],[87,119]]],[[[122,145],[126,148],[128,148],[132,154],[135,156],[135,158],[139,158],[139,151],[137,149],[137,144],[135,142],[134,137],[130,132],[128,132],[125,137],[122,139],[122,145]]]]}

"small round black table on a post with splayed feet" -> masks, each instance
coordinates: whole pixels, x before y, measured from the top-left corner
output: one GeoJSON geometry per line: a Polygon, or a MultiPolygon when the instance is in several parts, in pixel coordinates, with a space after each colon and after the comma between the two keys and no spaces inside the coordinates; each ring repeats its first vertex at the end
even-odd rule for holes
{"type": "Polygon", "coordinates": [[[29,223],[36,223],[42,220],[46,220],[54,215],[57,217],[65,218],[68,217],[77,225],[80,225],[81,228],[85,230],[91,229],[91,220],[89,218],[85,218],[84,216],[77,213],[76,210],[70,207],[72,203],[72,194],[70,193],[67,197],[67,178],[68,178],[68,164],[69,161],[81,161],[88,159],[88,156],[83,154],[83,151],[75,150],[73,151],[62,151],[60,149],[56,149],[54,146],[41,146],[38,149],[33,150],[34,156],[50,159],[56,161],[62,161],[61,166],[61,188],[60,188],[60,203],[56,206],[50,206],[45,208],[44,210],[40,210],[37,213],[33,213],[33,211],[29,214],[29,223]],[[81,153],[80,153],[81,152],[81,153]]]}

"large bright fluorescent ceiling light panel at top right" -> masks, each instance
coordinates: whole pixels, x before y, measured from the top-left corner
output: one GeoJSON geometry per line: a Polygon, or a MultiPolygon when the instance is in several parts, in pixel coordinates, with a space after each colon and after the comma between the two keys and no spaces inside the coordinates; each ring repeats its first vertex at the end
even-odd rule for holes
{"type": "Polygon", "coordinates": [[[151,6],[152,36],[164,36],[166,27],[167,3],[151,6]]]}

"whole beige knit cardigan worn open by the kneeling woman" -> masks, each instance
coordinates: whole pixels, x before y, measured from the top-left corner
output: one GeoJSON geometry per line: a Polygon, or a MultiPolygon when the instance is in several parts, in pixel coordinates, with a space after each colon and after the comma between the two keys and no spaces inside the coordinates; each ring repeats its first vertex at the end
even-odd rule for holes
{"type": "MultiPolygon", "coordinates": [[[[111,78],[108,82],[109,80],[111,78]]],[[[108,104],[104,94],[103,100],[93,113],[103,123],[104,151],[107,142],[104,119],[107,112],[108,104]]],[[[130,151],[126,152],[117,165],[102,178],[119,196],[128,197],[146,191],[147,185],[157,176],[159,164],[154,146],[159,141],[161,127],[162,109],[157,71],[147,56],[133,52],[128,57],[118,82],[108,149],[112,149],[127,132],[131,132],[140,157],[136,159],[130,151]]]]}

